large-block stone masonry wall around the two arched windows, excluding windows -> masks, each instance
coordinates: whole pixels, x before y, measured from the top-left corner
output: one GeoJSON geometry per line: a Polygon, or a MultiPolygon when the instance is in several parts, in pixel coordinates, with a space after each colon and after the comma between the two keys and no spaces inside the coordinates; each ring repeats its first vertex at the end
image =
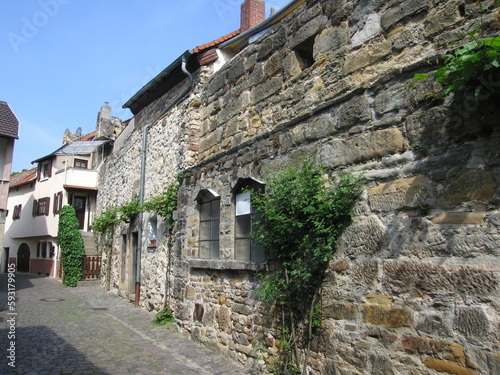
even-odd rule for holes
{"type": "Polygon", "coordinates": [[[498,97],[442,99],[432,79],[480,24],[497,32],[483,6],[308,1],[210,78],[177,224],[173,308],[194,339],[275,360],[259,264],[234,260],[232,189],[308,155],[367,181],[323,286],[311,372],[500,373],[498,97]],[[199,259],[202,189],[220,195],[220,259],[199,259]]]}

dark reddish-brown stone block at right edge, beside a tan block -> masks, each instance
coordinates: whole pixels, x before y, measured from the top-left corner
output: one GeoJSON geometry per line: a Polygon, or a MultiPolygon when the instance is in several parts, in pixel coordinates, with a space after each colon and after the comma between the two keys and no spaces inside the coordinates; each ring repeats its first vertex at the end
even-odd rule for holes
{"type": "Polygon", "coordinates": [[[491,200],[495,196],[495,181],[490,171],[472,169],[452,173],[437,204],[444,207],[475,200],[491,200]]]}

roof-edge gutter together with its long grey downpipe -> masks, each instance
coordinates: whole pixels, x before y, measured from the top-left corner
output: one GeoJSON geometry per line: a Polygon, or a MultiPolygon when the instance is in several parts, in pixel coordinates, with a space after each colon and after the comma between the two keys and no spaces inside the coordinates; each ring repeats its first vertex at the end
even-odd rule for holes
{"type": "MultiPolygon", "coordinates": [[[[187,76],[189,80],[188,86],[177,95],[166,107],[161,111],[161,113],[148,125],[144,127],[142,130],[142,149],[141,149],[141,175],[139,181],[139,205],[144,204],[144,185],[146,180],[146,148],[148,145],[148,129],[156,123],[166,112],[172,109],[188,92],[190,92],[193,88],[193,75],[187,70],[187,62],[189,58],[194,54],[192,50],[188,50],[184,52],[182,56],[180,56],[174,63],[170,64],[170,66],[161,72],[155,79],[153,79],[148,85],[144,86],[132,99],[130,99],[125,105],[124,108],[129,105],[132,101],[140,97],[144,92],[147,91],[147,87],[149,88],[155,86],[160,80],[166,77],[170,72],[173,71],[175,67],[181,64],[182,72],[187,76]]],[[[137,229],[137,253],[136,253],[136,274],[135,274],[135,306],[139,306],[140,294],[141,294],[141,252],[142,252],[142,232],[143,232],[143,212],[139,211],[138,217],[138,229],[137,229]]]]}

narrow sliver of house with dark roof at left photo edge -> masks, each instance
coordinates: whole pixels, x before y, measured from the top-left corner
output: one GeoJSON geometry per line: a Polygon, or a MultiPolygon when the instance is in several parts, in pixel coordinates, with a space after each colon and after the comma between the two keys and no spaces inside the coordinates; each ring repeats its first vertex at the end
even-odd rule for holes
{"type": "MultiPolygon", "coordinates": [[[[3,244],[5,221],[8,215],[7,195],[14,155],[14,142],[18,139],[19,121],[7,102],[0,101],[0,244],[3,244]]],[[[0,272],[6,272],[8,249],[2,247],[0,272]]]]}

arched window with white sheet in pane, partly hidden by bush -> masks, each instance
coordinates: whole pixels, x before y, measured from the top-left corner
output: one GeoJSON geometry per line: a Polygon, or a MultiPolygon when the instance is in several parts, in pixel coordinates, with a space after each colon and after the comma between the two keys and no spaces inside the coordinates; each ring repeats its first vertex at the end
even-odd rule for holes
{"type": "Polygon", "coordinates": [[[258,219],[258,212],[252,207],[250,190],[263,189],[264,184],[253,178],[239,179],[233,192],[236,200],[234,258],[252,262],[266,259],[263,246],[252,240],[252,228],[258,219]]]}

